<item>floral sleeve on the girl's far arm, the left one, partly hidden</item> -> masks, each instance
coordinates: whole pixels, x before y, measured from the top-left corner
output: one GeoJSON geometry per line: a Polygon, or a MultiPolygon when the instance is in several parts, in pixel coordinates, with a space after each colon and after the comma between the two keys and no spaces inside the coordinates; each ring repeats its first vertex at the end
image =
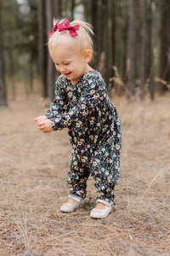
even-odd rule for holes
{"type": "Polygon", "coordinates": [[[54,102],[51,104],[48,109],[46,116],[48,119],[54,119],[57,116],[63,114],[67,110],[67,96],[65,91],[62,88],[62,76],[59,76],[55,84],[55,98],[54,102]]]}

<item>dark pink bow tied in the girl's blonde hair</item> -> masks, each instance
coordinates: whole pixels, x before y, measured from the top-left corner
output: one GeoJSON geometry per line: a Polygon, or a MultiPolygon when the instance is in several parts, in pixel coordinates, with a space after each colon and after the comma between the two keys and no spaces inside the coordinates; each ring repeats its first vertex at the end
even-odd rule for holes
{"type": "Polygon", "coordinates": [[[79,25],[71,26],[68,19],[66,19],[65,22],[62,22],[61,24],[59,24],[59,21],[60,20],[57,21],[55,26],[49,32],[48,34],[49,37],[51,37],[54,34],[54,32],[58,29],[59,29],[59,32],[68,30],[71,34],[71,37],[76,37],[78,35],[76,31],[79,29],[80,27],[79,25]]]}

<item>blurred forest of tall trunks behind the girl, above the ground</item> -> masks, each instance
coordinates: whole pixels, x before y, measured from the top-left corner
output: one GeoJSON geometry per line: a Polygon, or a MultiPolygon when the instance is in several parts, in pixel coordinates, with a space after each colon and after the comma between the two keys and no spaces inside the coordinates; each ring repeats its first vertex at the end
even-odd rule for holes
{"type": "Polygon", "coordinates": [[[54,17],[93,25],[92,66],[108,90],[154,100],[170,83],[169,9],[166,0],[0,0],[0,105],[9,90],[15,98],[18,89],[34,93],[37,83],[43,97],[54,97],[47,47],[54,17]]]}

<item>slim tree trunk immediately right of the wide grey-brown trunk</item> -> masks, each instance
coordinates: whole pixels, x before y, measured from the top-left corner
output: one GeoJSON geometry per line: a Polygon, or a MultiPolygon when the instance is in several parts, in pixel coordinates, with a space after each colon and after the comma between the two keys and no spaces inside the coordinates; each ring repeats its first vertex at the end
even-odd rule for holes
{"type": "Polygon", "coordinates": [[[146,36],[147,36],[147,1],[142,1],[142,44],[141,44],[141,70],[140,70],[140,91],[141,99],[144,100],[144,84],[146,80],[146,36]]]}

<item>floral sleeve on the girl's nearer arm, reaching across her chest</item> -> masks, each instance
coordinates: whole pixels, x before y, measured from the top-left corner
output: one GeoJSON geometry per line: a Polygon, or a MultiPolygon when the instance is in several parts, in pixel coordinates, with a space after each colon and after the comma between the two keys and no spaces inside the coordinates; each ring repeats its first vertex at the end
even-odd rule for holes
{"type": "Polygon", "coordinates": [[[100,79],[88,79],[87,85],[82,90],[82,95],[77,105],[70,109],[68,113],[59,115],[51,119],[54,130],[75,125],[78,120],[86,119],[88,113],[93,110],[107,96],[105,83],[100,79]]]}

